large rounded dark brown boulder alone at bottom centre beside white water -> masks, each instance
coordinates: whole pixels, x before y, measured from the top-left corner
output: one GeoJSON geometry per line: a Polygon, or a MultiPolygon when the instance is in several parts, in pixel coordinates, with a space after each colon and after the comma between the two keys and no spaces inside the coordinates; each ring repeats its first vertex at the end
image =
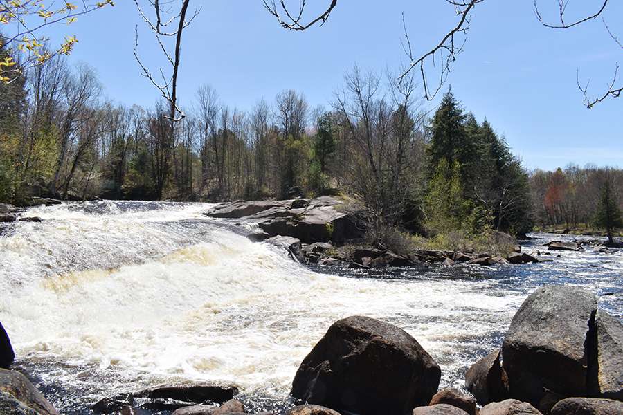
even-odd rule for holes
{"type": "Polygon", "coordinates": [[[403,415],[428,404],[440,378],[435,360],[406,331],[354,316],[332,324],[303,360],[292,395],[360,415],[403,415]]]}

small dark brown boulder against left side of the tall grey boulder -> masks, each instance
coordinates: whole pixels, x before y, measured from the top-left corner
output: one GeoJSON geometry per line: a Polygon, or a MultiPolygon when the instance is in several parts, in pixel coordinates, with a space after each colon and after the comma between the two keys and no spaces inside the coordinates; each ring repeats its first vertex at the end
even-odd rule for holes
{"type": "Polygon", "coordinates": [[[465,387],[482,405],[508,398],[508,378],[500,363],[499,349],[467,369],[465,387]]]}

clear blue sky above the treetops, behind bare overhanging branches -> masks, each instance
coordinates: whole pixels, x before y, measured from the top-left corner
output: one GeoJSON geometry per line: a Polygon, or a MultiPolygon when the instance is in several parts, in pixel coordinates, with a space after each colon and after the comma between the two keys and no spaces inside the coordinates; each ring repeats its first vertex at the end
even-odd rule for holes
{"type": "MultiPolygon", "coordinates": [[[[303,33],[280,28],[261,0],[194,0],[201,14],[185,32],[179,87],[183,104],[210,84],[231,107],[249,109],[283,89],[303,91],[311,107],[328,105],[343,75],[356,63],[365,70],[397,70],[404,12],[414,54],[429,50],[456,20],[443,0],[341,0],[322,27],[303,33]]],[[[297,1],[291,1],[296,6],[297,1]]],[[[309,13],[329,0],[309,1],[309,13]]],[[[583,5],[584,3],[584,5],[583,5]]],[[[590,2],[594,3],[594,2],[590,2]]],[[[623,39],[623,1],[611,1],[606,21],[623,39]]],[[[544,16],[557,1],[540,0],[544,16]]],[[[571,1],[569,18],[586,13],[571,1]]],[[[139,25],[140,50],[152,68],[162,63],[131,0],[82,17],[53,35],[75,34],[70,62],[98,71],[112,100],[150,106],[157,91],[140,71],[132,49],[139,25]]],[[[544,28],[532,1],[487,0],[473,14],[465,51],[449,77],[453,93],[479,120],[487,117],[526,167],[554,169],[568,163],[623,167],[623,98],[588,110],[581,104],[576,71],[602,92],[623,50],[601,21],[571,30],[544,28]],[[512,6],[509,6],[512,4],[512,6]]],[[[620,82],[623,83],[623,69],[620,82]]],[[[434,108],[439,99],[426,102],[434,108]]]]}

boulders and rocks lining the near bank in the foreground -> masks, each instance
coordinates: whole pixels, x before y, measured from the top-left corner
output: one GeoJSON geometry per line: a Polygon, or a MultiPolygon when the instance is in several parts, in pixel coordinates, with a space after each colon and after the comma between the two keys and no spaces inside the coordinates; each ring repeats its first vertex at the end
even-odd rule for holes
{"type": "MultiPolygon", "coordinates": [[[[537,289],[503,346],[467,371],[471,394],[438,390],[442,367],[399,327],[370,317],[338,320],[301,362],[291,394],[303,405],[287,414],[622,414],[623,324],[598,300],[580,288],[537,289]]],[[[0,351],[0,413],[57,414],[24,374],[7,370],[13,354],[3,329],[0,351]]],[[[93,412],[246,414],[237,394],[234,385],[163,385],[102,399],[93,412]]]]}

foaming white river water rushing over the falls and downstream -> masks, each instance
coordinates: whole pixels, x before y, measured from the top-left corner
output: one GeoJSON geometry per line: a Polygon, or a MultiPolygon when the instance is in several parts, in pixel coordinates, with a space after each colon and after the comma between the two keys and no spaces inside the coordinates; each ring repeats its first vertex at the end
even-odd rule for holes
{"type": "MultiPolygon", "coordinates": [[[[405,329],[442,367],[442,386],[457,387],[538,286],[583,286],[623,317],[623,250],[522,266],[307,267],[207,219],[208,208],[66,203],[26,212],[41,223],[0,224],[0,321],[16,365],[60,412],[186,381],[234,382],[251,411],[282,409],[301,360],[349,315],[405,329]]],[[[528,252],[577,239],[532,237],[528,252]]]]}

